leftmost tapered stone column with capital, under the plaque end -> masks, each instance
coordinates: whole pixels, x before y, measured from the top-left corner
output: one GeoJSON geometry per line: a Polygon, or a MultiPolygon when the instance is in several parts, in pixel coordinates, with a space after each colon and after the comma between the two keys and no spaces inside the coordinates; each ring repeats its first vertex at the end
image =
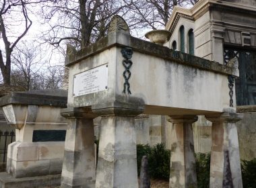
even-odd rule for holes
{"type": "Polygon", "coordinates": [[[61,174],[61,187],[95,187],[94,155],[95,114],[88,109],[67,108],[61,112],[67,118],[67,134],[61,174]]]}

